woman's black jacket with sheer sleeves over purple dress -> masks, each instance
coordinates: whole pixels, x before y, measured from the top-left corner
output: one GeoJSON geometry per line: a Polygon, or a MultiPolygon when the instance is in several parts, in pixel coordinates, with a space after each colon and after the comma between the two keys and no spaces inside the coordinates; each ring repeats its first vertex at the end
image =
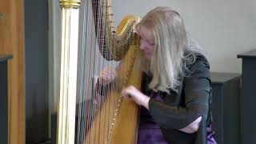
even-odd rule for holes
{"type": "MultiPolygon", "coordinates": [[[[179,87],[178,92],[174,90],[170,90],[170,94],[158,92],[161,93],[163,102],[150,98],[150,115],[161,127],[167,142],[206,144],[206,126],[210,126],[211,122],[210,66],[206,58],[198,54],[195,62],[188,68],[188,75],[182,78],[182,86],[179,87]],[[178,130],[188,126],[199,116],[202,116],[202,122],[197,132],[186,134],[178,130]]],[[[147,85],[150,77],[143,75],[142,91],[149,93],[147,85]]]]}

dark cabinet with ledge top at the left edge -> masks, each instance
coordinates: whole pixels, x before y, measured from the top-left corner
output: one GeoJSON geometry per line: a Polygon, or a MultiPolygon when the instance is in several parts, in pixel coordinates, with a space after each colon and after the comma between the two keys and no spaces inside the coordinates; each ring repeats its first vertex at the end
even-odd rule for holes
{"type": "Polygon", "coordinates": [[[11,55],[0,54],[0,143],[8,143],[8,72],[11,55]]]}

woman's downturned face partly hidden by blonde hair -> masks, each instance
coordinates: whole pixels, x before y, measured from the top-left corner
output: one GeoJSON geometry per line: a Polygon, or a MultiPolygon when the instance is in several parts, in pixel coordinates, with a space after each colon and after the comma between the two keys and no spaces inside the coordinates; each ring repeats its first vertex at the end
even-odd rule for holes
{"type": "Polygon", "coordinates": [[[154,35],[144,26],[141,26],[138,34],[141,36],[140,49],[143,51],[146,59],[150,60],[155,49],[154,35]]]}

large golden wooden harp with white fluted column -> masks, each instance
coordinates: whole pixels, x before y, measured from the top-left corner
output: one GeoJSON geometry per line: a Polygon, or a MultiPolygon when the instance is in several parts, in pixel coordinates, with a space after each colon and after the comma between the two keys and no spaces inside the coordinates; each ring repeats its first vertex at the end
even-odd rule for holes
{"type": "Polygon", "coordinates": [[[57,141],[136,143],[138,106],[122,98],[120,92],[129,85],[140,89],[142,52],[138,49],[139,37],[134,33],[139,18],[126,16],[115,29],[110,0],[84,0],[80,5],[80,0],[60,0],[62,59],[57,141]],[[79,13],[80,9],[85,12],[79,13]],[[82,30],[78,30],[79,14],[83,19],[82,30]],[[103,86],[102,94],[98,94],[94,75],[106,66],[101,59],[110,64],[121,61],[122,66],[112,85],[103,86]]]}

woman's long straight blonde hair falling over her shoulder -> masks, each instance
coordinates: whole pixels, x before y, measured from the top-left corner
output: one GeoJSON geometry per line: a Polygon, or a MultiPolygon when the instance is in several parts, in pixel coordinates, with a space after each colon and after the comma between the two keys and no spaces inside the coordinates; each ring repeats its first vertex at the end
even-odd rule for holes
{"type": "Polygon", "coordinates": [[[151,30],[154,35],[155,50],[148,70],[153,78],[149,88],[169,93],[178,91],[182,78],[186,76],[186,66],[195,62],[195,54],[202,54],[202,49],[186,33],[180,14],[170,7],[156,7],[146,14],[135,27],[151,30]]]}

